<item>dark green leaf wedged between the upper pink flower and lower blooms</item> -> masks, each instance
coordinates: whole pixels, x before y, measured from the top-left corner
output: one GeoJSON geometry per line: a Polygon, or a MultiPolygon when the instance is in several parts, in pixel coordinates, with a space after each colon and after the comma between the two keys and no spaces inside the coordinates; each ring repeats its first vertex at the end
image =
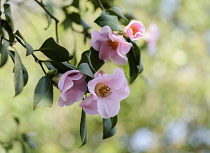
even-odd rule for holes
{"type": "Polygon", "coordinates": [[[78,65],[80,65],[81,63],[88,63],[92,72],[95,73],[102,67],[104,61],[99,59],[98,51],[90,48],[90,50],[82,53],[82,58],[78,65]]]}

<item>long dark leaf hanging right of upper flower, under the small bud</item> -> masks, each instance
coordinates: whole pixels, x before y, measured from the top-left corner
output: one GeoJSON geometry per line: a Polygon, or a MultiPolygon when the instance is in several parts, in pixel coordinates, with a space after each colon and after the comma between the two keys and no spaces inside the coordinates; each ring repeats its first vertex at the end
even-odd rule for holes
{"type": "Polygon", "coordinates": [[[135,42],[132,42],[132,44],[133,46],[127,54],[130,71],[130,84],[132,84],[138,77],[138,75],[144,70],[143,63],[141,60],[141,50],[135,42]]]}

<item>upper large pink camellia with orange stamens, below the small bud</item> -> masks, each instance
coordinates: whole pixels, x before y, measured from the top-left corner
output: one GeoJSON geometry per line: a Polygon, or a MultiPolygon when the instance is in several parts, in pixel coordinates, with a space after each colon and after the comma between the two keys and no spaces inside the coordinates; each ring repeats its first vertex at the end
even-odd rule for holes
{"type": "Polygon", "coordinates": [[[104,26],[100,32],[94,30],[91,33],[90,43],[96,51],[99,51],[99,59],[106,62],[110,58],[119,65],[124,65],[127,62],[125,55],[132,46],[125,41],[123,36],[112,33],[109,26],[104,26]]]}

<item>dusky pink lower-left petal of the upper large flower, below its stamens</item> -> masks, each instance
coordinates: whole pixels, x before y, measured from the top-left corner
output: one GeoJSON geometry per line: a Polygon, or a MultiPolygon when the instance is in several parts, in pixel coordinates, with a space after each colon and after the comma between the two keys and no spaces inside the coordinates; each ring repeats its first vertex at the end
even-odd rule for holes
{"type": "Polygon", "coordinates": [[[101,44],[99,51],[99,59],[104,60],[104,62],[106,62],[109,59],[109,57],[111,57],[115,52],[116,50],[108,46],[107,41],[105,41],[101,44]]]}

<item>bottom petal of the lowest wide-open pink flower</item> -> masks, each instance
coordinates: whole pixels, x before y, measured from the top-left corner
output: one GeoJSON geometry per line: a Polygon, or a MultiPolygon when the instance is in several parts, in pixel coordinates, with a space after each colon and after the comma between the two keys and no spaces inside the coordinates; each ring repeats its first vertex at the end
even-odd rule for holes
{"type": "Polygon", "coordinates": [[[115,94],[105,98],[98,98],[97,101],[98,112],[102,118],[114,117],[120,110],[120,101],[115,94]]]}

